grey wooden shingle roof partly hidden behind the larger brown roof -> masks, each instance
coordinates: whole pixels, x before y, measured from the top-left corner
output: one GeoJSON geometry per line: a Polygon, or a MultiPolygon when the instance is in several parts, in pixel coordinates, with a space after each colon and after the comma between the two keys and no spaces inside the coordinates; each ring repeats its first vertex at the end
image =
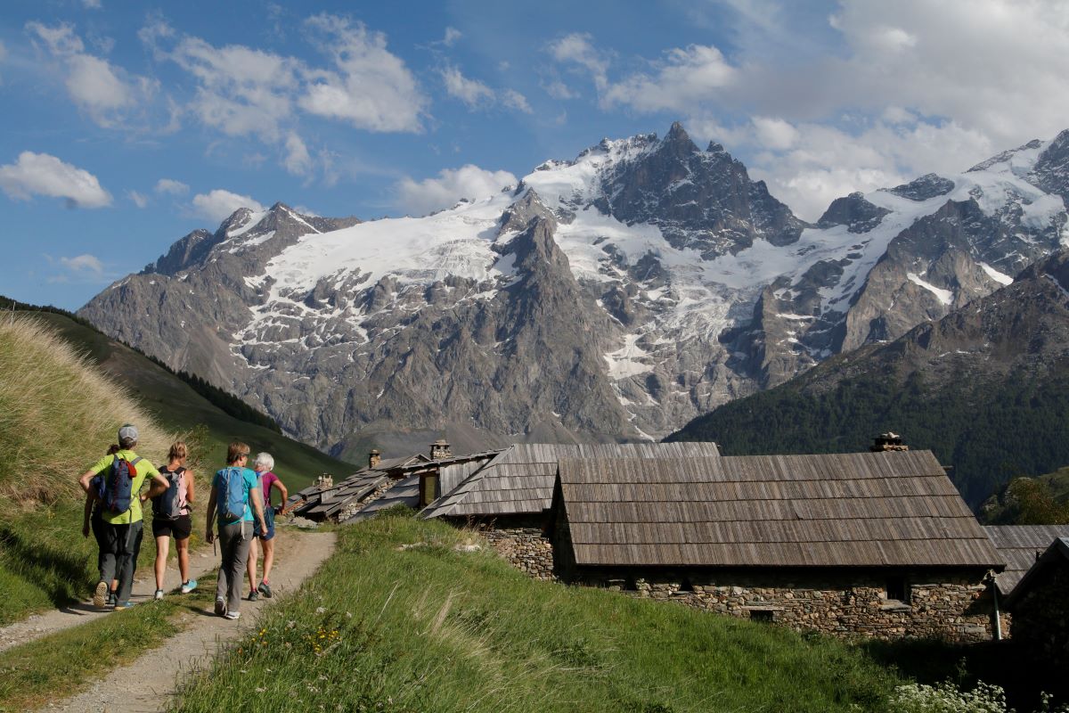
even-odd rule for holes
{"type": "Polygon", "coordinates": [[[693,458],[719,455],[716,444],[517,444],[429,505],[423,517],[540,513],[553,501],[557,464],[568,458],[693,458]]]}

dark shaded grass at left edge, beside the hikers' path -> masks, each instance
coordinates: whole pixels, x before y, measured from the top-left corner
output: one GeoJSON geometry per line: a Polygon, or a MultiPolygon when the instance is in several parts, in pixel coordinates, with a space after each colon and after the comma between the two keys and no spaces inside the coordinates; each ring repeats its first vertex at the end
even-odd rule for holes
{"type": "Polygon", "coordinates": [[[67,604],[91,584],[84,554],[34,541],[7,525],[0,525],[0,559],[57,606],[67,604]]]}

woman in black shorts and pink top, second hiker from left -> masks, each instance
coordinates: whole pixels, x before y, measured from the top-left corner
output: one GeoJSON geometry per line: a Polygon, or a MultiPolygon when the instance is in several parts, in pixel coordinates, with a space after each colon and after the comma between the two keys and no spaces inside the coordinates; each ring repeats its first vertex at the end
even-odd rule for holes
{"type": "Polygon", "coordinates": [[[152,507],[152,534],[156,538],[156,599],[164,599],[164,572],[172,537],[179,548],[182,593],[188,594],[197,589],[197,580],[189,578],[189,533],[193,529],[189,509],[193,503],[193,471],[186,468],[188,458],[189,450],[179,440],[167,454],[167,467],[159,469],[159,475],[167,478],[171,486],[153,499],[152,507]],[[174,507],[170,508],[172,501],[174,507]]]}

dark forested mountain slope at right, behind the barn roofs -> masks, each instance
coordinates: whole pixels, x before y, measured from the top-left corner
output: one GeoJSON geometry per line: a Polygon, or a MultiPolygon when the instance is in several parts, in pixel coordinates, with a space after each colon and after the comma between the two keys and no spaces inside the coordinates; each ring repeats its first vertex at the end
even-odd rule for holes
{"type": "Polygon", "coordinates": [[[836,452],[896,431],[931,448],[974,508],[1069,463],[1069,251],[899,339],[830,359],[695,419],[669,440],[725,453],[836,452]]]}

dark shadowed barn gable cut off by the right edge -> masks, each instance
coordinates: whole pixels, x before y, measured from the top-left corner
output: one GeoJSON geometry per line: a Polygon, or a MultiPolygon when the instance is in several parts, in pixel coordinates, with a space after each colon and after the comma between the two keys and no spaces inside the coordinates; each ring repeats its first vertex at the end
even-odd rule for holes
{"type": "Polygon", "coordinates": [[[1069,538],[1058,538],[1006,601],[1018,650],[1055,671],[1069,670],[1069,538]]]}

